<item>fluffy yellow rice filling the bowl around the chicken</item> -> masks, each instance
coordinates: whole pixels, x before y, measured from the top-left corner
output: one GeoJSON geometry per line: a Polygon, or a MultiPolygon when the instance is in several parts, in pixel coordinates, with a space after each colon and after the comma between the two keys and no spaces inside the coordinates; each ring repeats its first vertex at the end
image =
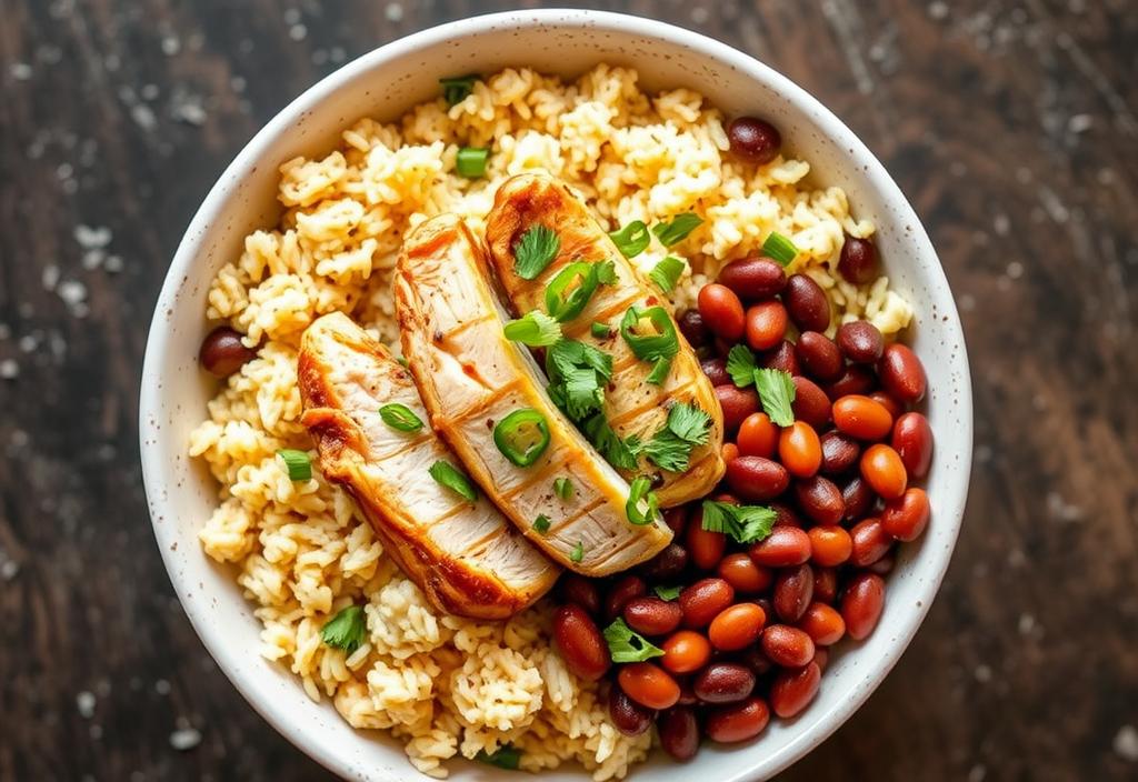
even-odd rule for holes
{"type": "Polygon", "coordinates": [[[835,324],[864,317],[887,336],[908,324],[909,306],[888,280],[859,288],[834,273],[843,232],[873,233],[841,189],[811,189],[806,161],[756,168],[726,150],[724,117],[690,90],[651,95],[635,70],[607,65],[575,82],[510,68],[454,107],[439,98],[395,124],[361,119],[327,157],[281,165],[280,224],[246,238],[211,286],[208,316],[259,349],[190,438],[190,454],[220,484],[201,544],[233,564],[263,625],[261,654],[353,726],[390,731],[429,775],[446,776],[455,755],[509,742],[529,771],[578,760],[594,780],[619,779],[652,739],[617,732],[597,688],[566,669],[546,602],[504,623],[439,615],[344,492],[319,474],[288,480],[277,450],[311,448],[298,423],[300,334],[343,310],[396,344],[390,274],[404,234],[445,211],[480,231],[498,184],[534,169],[576,188],[610,230],[683,211],[703,217],[681,244],[666,252],[653,240],[635,259],[645,269],[669,253],[690,261],[678,307],[723,263],[778,231],[801,250],[795,271],[827,292],[835,324]],[[485,178],[455,173],[460,147],[492,149],[485,178]],[[324,646],[320,629],[352,604],[365,605],[369,639],[346,655],[324,646]]]}

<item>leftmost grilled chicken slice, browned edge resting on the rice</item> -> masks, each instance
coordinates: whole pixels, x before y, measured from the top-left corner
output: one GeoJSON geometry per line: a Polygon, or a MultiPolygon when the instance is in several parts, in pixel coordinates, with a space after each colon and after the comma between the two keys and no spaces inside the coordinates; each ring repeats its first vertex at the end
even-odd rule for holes
{"type": "Polygon", "coordinates": [[[498,619],[544,594],[559,569],[527,543],[487,499],[470,504],[428,469],[457,464],[430,427],[391,429],[379,408],[427,414],[411,375],[345,315],[304,332],[298,359],[305,426],[327,479],[355,498],[385,550],[450,614],[498,619]]]}

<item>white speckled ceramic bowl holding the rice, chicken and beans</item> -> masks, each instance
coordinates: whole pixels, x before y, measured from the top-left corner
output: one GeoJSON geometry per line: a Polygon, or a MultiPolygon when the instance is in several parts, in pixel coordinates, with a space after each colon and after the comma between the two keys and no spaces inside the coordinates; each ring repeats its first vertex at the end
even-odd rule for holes
{"type": "MultiPolygon", "coordinates": [[[[395,41],[351,63],[269,123],[206,197],[166,276],[150,326],[142,373],[140,438],[155,536],[178,596],[209,652],[248,701],[292,743],[347,777],[423,780],[393,740],[351,729],[327,701],[313,704],[288,671],[257,655],[259,624],[226,568],[207,558],[197,532],[217,504],[205,468],[185,456],[215,384],[198,368],[207,331],[206,290],[238,257],[244,236],[274,225],[278,165],[336,145],[361,116],[393,119],[437,94],[438,77],[526,65],[572,76],[600,63],[635,66],[649,89],[687,86],[728,116],[758,114],[809,160],[815,182],[841,185],[853,211],[877,225],[877,247],[896,289],[916,310],[912,346],[929,374],[929,421],[937,455],[927,490],[933,521],[907,544],[889,576],[885,610],[873,635],[846,643],[817,699],[797,719],[775,719],[744,746],[704,746],[688,764],[653,758],[633,779],[766,779],[820,743],[897,663],[929,610],[956,542],[972,451],[972,396],[964,336],[937,253],[917,216],[857,136],[785,76],[711,39],[616,14],[516,11],[455,22],[395,41]]],[[[496,771],[452,762],[452,779],[496,771]]],[[[542,775],[587,779],[579,767],[542,775]]]]}

